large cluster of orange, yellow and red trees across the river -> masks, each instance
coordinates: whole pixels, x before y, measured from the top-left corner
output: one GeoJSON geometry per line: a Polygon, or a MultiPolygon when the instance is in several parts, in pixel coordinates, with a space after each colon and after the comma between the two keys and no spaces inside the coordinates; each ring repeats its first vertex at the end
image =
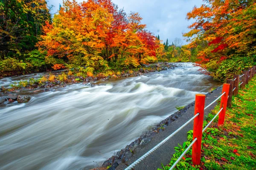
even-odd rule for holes
{"type": "MultiPolygon", "coordinates": [[[[151,32],[145,30],[141,20],[138,13],[127,16],[111,0],[82,3],[64,0],[52,25],[44,26],[45,35],[41,36],[38,47],[46,50],[48,56],[65,57],[70,63],[76,63],[80,56],[86,66],[94,68],[106,65],[105,61],[134,62],[137,59],[140,63],[144,57],[156,57],[161,45],[151,32]],[[95,57],[88,56],[101,58],[97,57],[96,64],[92,59],[95,57]]],[[[54,68],[58,68],[57,65],[54,68]]]]}

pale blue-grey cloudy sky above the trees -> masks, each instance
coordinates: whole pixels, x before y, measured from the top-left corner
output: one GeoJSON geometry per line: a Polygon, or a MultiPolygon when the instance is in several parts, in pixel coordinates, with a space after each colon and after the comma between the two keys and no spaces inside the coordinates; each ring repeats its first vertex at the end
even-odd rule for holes
{"type": "MultiPolygon", "coordinates": [[[[77,0],[82,2],[84,0],[77,0]]],[[[200,6],[202,0],[112,0],[119,8],[124,8],[127,14],[130,11],[139,12],[143,17],[142,23],[155,35],[159,34],[164,42],[168,38],[169,44],[175,37],[184,39],[182,33],[189,31],[187,28],[192,21],[186,20],[187,12],[194,6],[200,6]]],[[[57,12],[62,0],[49,0],[49,5],[55,8],[51,13],[57,12]]],[[[183,40],[183,44],[186,41],[183,40]]]]}

